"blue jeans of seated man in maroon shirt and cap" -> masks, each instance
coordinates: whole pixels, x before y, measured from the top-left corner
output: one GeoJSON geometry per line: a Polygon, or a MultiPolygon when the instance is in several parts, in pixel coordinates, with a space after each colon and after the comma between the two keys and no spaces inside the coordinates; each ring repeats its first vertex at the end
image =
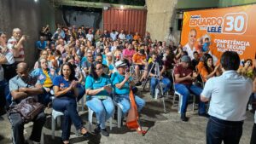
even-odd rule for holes
{"type": "MultiPolygon", "coordinates": [[[[202,92],[202,89],[191,84],[191,85],[185,85],[185,84],[175,84],[175,90],[182,96],[182,106],[181,106],[181,113],[187,112],[188,107],[188,101],[190,92],[192,92],[195,96],[197,96],[200,99],[200,95],[202,92]]],[[[198,113],[206,113],[206,104],[204,102],[199,102],[199,111],[198,113]]]]}

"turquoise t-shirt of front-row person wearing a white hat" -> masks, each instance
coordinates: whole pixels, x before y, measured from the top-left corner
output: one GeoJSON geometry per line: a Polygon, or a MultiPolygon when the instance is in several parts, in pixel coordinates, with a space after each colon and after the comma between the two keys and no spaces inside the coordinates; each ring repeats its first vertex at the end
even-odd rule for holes
{"type": "MultiPolygon", "coordinates": [[[[118,89],[117,87],[115,87],[115,84],[119,84],[119,83],[123,82],[124,79],[125,79],[125,76],[120,75],[119,72],[114,72],[112,74],[111,80],[112,80],[112,85],[113,85],[115,94],[117,94],[117,95],[129,95],[130,86],[129,86],[128,82],[125,82],[122,89],[118,89]]],[[[131,78],[130,78],[130,80],[131,80],[131,78]]]]}

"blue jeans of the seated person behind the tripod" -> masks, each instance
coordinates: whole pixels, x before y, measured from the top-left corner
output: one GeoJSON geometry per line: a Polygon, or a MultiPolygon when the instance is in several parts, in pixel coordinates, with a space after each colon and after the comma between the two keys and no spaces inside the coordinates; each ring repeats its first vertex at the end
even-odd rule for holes
{"type": "MultiPolygon", "coordinates": [[[[160,80],[160,82],[162,82],[164,84],[164,86],[163,86],[164,93],[166,93],[166,91],[168,91],[172,86],[171,81],[170,81],[169,78],[163,78],[163,79],[160,80]]],[[[155,90],[155,87],[158,83],[159,83],[158,79],[151,78],[151,80],[150,80],[150,93],[151,93],[151,95],[154,95],[154,90],[155,90]]]]}

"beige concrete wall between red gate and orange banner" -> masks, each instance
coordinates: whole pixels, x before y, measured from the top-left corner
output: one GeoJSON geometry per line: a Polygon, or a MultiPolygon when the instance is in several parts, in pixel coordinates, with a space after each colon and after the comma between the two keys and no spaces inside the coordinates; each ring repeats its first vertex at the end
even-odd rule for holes
{"type": "Polygon", "coordinates": [[[176,6],[177,0],[147,0],[147,26],[146,31],[151,33],[151,38],[167,41],[170,27],[173,27],[174,41],[179,41],[177,35],[176,6]]]}

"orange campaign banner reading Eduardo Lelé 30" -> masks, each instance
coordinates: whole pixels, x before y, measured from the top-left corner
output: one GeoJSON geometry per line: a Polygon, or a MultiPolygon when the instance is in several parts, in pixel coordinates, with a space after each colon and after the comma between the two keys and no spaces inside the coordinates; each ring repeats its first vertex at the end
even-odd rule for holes
{"type": "Polygon", "coordinates": [[[211,53],[215,61],[227,50],[236,51],[241,61],[253,60],[256,49],[254,14],[256,4],[184,12],[181,44],[185,49],[211,53]]]}

